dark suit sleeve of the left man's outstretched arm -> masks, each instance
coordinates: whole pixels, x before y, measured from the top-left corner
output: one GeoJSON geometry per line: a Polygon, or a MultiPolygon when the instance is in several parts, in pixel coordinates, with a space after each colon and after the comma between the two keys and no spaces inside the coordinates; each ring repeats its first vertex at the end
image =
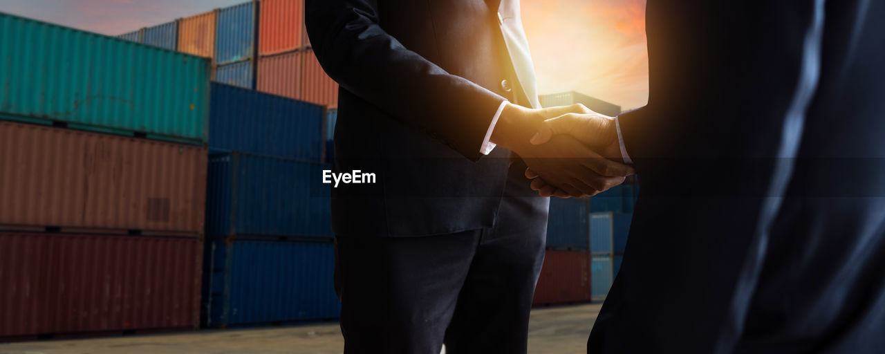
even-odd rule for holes
{"type": "Polygon", "coordinates": [[[307,0],[307,32],[319,64],[390,117],[480,158],[504,97],[405,48],[379,26],[377,10],[372,0],[307,0]]]}

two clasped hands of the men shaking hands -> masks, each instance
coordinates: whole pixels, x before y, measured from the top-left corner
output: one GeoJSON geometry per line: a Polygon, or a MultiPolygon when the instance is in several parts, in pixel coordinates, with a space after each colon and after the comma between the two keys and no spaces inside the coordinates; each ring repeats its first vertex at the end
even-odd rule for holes
{"type": "Polygon", "coordinates": [[[541,196],[595,196],[635,173],[624,164],[614,118],[583,104],[544,109],[507,104],[490,141],[526,162],[526,177],[541,196]]]}

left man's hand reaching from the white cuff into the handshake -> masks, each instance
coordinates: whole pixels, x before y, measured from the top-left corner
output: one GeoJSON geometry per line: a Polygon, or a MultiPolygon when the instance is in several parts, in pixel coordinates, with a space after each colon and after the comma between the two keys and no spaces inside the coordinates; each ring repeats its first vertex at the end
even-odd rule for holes
{"type": "Polygon", "coordinates": [[[558,196],[596,195],[623,182],[624,177],[633,174],[633,169],[605,158],[573,137],[551,138],[562,127],[548,128],[549,122],[575,112],[595,113],[583,104],[543,110],[507,104],[492,132],[491,142],[516,152],[544,181],[560,190],[558,196]],[[528,143],[533,135],[548,129],[550,135],[543,141],[535,138],[535,143],[528,143]]]}

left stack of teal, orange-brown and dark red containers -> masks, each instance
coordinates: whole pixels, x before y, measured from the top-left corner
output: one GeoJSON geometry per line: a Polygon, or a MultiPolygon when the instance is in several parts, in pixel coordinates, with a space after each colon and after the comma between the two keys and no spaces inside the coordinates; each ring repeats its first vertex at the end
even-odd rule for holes
{"type": "Polygon", "coordinates": [[[196,328],[209,61],[0,27],[0,341],[196,328]]]}

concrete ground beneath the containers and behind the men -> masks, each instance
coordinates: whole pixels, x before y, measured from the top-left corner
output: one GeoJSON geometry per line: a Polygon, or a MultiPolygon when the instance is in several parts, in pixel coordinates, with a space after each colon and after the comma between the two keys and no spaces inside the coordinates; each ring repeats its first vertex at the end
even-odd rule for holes
{"type": "MultiPolygon", "coordinates": [[[[535,309],[528,326],[528,352],[586,352],[587,336],[601,304],[535,309]]],[[[0,354],[340,354],[337,323],[131,335],[72,341],[0,343],[0,354]]]]}

